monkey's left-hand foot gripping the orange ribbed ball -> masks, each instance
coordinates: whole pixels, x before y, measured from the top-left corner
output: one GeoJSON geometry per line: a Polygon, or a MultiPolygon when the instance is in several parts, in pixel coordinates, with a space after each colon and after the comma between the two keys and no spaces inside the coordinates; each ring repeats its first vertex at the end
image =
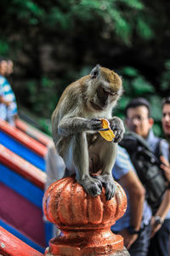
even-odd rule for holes
{"type": "Polygon", "coordinates": [[[85,175],[82,179],[77,180],[86,192],[92,196],[97,196],[101,194],[102,183],[89,175],[85,175]]]}

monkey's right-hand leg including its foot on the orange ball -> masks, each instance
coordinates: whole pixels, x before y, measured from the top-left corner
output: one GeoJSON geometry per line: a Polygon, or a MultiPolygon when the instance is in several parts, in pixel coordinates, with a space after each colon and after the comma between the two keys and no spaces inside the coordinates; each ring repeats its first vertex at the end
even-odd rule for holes
{"type": "Polygon", "coordinates": [[[97,177],[99,181],[105,187],[106,200],[111,200],[115,194],[115,183],[112,177],[112,168],[116,160],[116,143],[106,142],[102,137],[99,137],[95,143],[94,149],[97,150],[99,154],[99,161],[102,166],[101,175],[97,177]]]}

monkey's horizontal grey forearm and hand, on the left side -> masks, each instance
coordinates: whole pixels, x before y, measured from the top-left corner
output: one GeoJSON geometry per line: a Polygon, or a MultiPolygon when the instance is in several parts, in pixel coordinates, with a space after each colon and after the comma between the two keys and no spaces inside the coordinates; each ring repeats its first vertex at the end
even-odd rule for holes
{"type": "Polygon", "coordinates": [[[58,132],[60,136],[66,137],[84,131],[99,131],[102,129],[101,123],[99,119],[63,118],[59,122],[58,132]]]}

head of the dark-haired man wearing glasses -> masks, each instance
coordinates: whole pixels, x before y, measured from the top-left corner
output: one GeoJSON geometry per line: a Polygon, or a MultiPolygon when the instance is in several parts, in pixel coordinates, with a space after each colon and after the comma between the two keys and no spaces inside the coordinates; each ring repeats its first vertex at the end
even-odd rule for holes
{"type": "Polygon", "coordinates": [[[125,108],[127,129],[139,134],[141,137],[148,137],[154,120],[150,117],[150,103],[144,98],[135,98],[125,108]]]}

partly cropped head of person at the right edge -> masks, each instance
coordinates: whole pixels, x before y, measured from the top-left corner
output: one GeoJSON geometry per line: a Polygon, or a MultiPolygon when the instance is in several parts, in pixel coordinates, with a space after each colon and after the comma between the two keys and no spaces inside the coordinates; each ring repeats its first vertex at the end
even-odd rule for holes
{"type": "Polygon", "coordinates": [[[164,98],[162,101],[161,124],[165,136],[170,138],[170,97],[164,98]]]}

